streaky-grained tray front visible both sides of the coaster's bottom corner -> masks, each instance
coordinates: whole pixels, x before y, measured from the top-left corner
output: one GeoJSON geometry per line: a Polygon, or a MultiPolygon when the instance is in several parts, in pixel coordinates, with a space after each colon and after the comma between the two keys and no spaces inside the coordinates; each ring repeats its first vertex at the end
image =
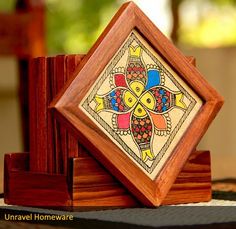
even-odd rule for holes
{"type": "MultiPolygon", "coordinates": [[[[73,158],[72,200],[75,207],[135,207],[142,204],[87,152],[73,158]]],[[[211,200],[208,151],[193,152],[162,205],[211,200]]]]}

